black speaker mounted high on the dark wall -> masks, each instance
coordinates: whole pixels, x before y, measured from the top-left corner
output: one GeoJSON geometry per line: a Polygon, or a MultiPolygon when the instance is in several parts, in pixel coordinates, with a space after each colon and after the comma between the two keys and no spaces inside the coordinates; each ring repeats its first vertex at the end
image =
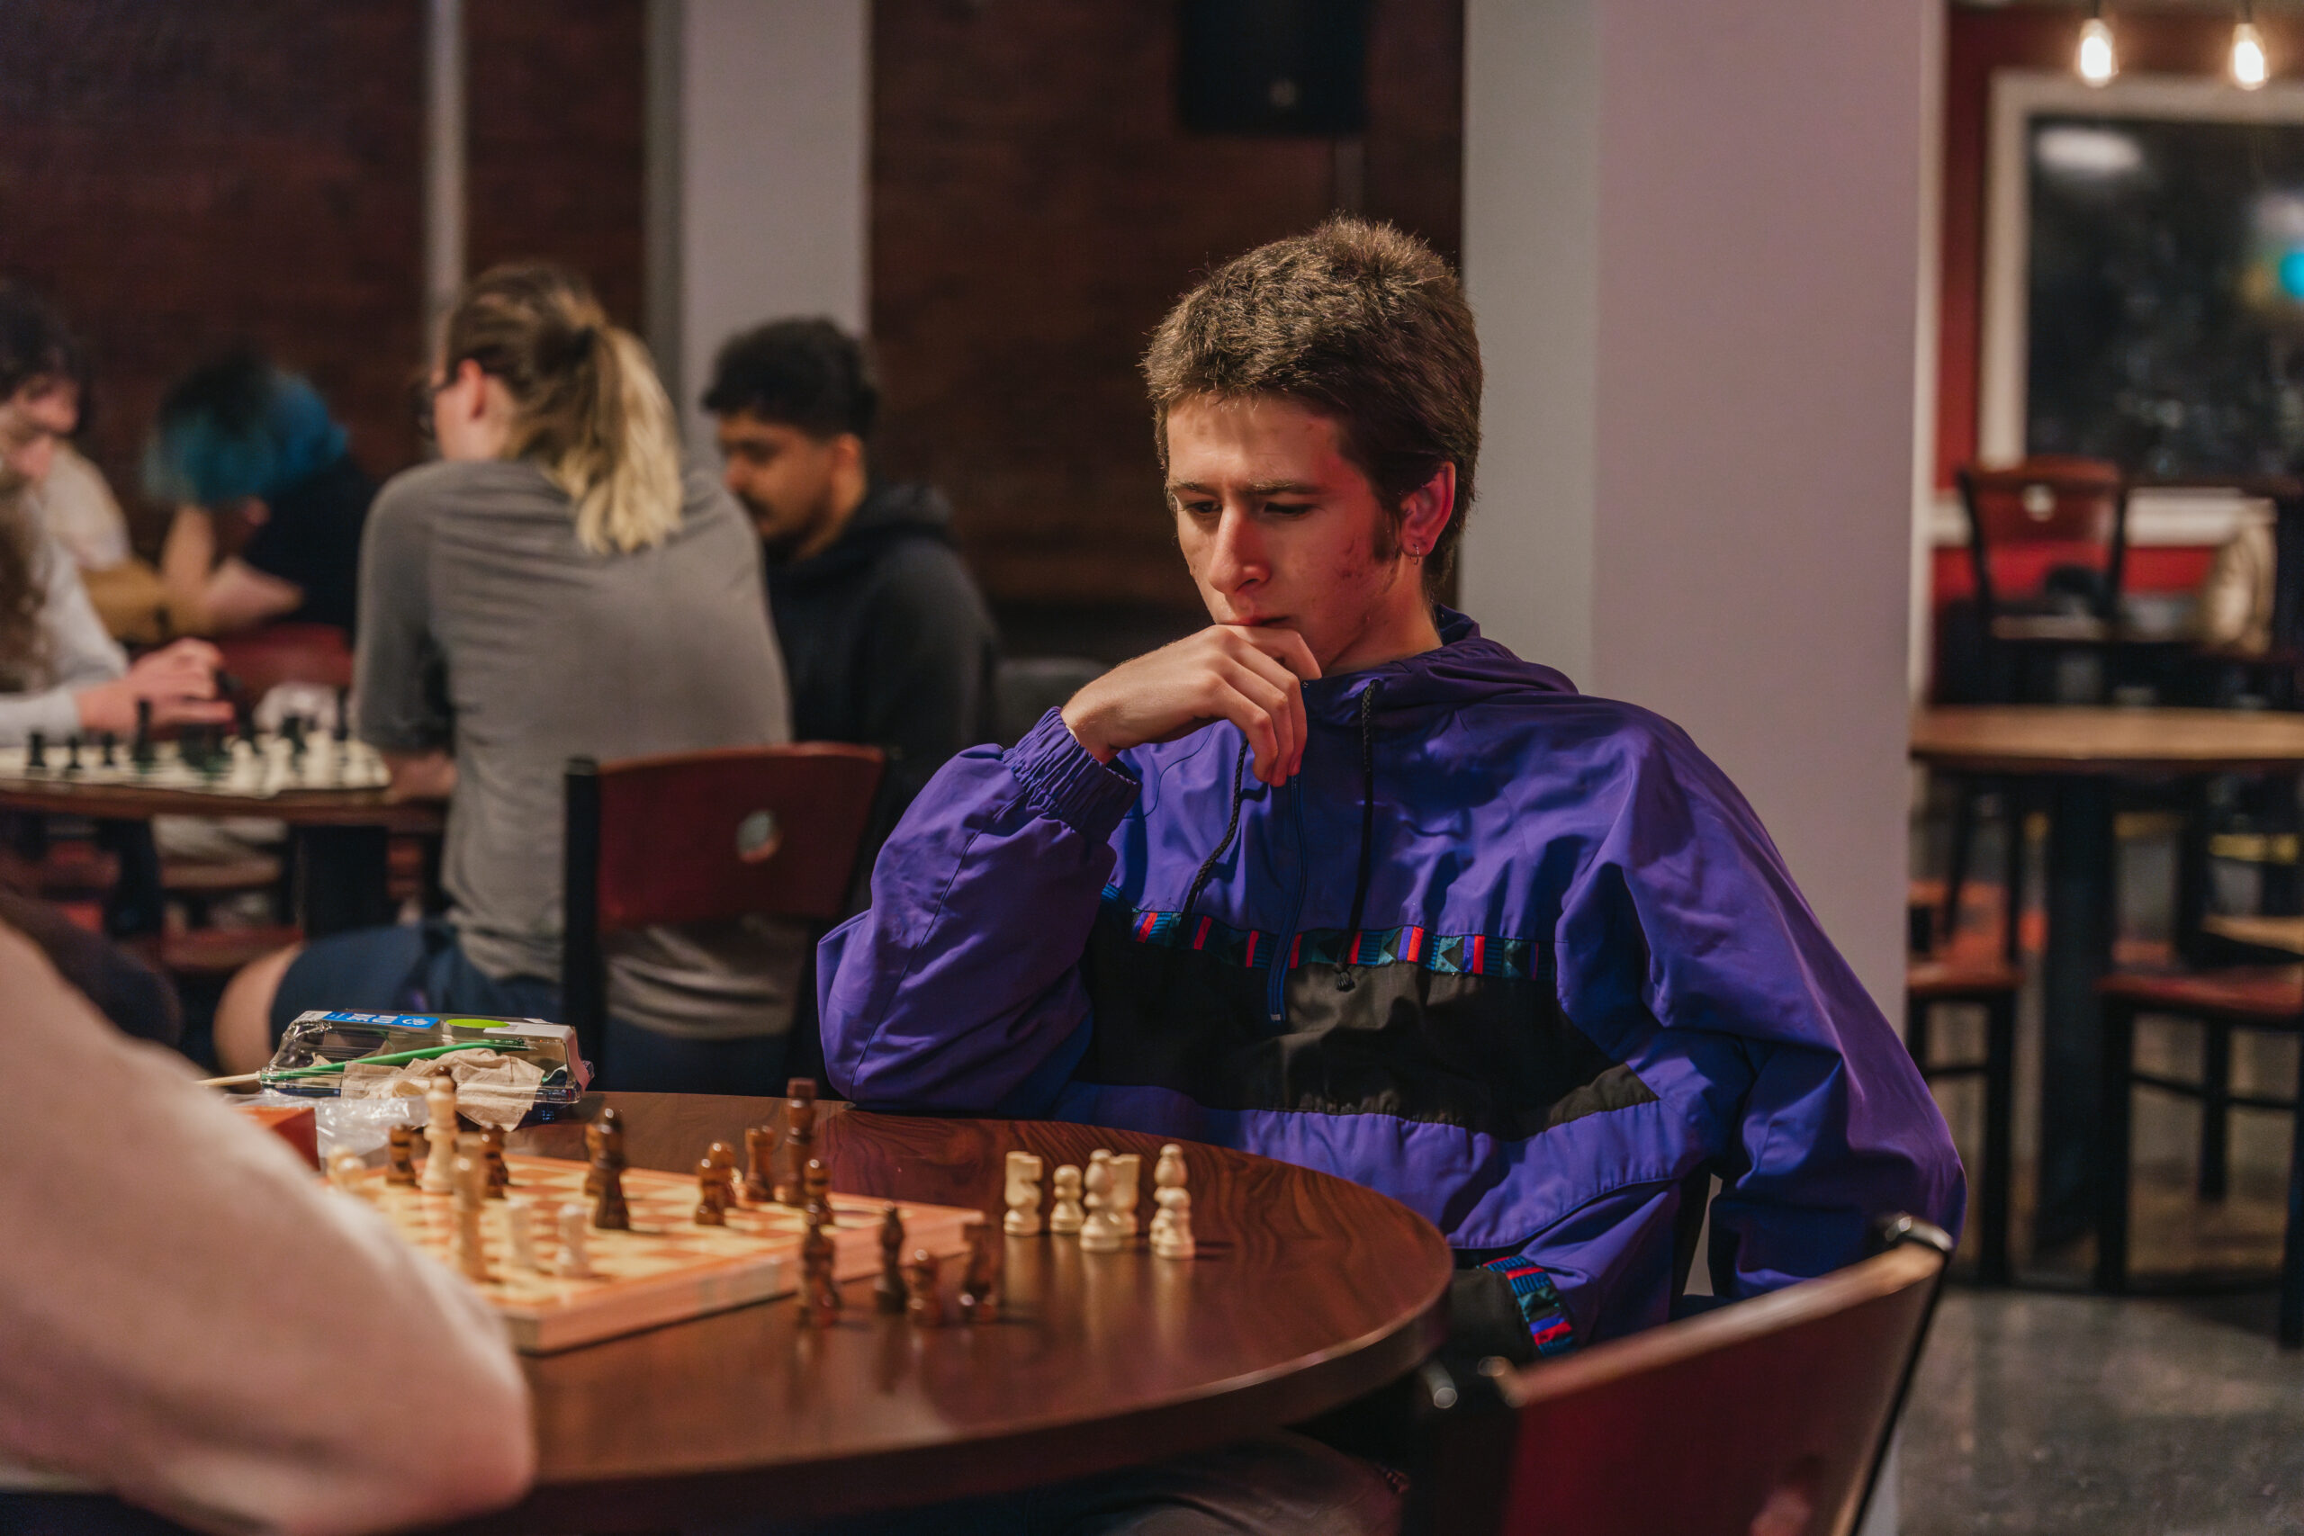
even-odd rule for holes
{"type": "Polygon", "coordinates": [[[1200,134],[1369,127],[1366,0],[1177,0],[1177,108],[1200,134]]]}

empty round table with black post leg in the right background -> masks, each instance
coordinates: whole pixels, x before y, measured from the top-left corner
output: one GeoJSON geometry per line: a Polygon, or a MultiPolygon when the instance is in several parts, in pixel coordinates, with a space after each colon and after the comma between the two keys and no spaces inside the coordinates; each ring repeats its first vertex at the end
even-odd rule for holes
{"type": "Polygon", "coordinates": [[[2034,1232],[2044,1241],[2078,1237],[2094,1209],[2097,981],[2113,965],[2120,896],[2113,778],[2297,774],[2304,769],[2304,714],[2069,705],[1922,709],[1912,716],[1912,758],[1938,769],[2048,785],[2034,1232]]]}

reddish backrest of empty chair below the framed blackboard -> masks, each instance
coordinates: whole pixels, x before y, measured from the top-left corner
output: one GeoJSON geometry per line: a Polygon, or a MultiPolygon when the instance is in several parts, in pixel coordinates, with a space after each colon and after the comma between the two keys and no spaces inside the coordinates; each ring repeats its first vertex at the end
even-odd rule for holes
{"type": "Polygon", "coordinates": [[[2087,567],[2101,580],[2101,617],[2127,567],[2129,493],[2120,465],[2044,454],[2004,470],[1961,465],[1968,560],[1986,617],[1998,603],[2039,592],[2055,567],[2087,567]]]}

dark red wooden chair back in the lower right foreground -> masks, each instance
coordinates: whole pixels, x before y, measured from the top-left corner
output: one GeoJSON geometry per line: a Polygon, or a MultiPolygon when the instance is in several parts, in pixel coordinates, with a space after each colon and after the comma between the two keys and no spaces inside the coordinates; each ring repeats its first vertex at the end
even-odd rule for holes
{"type": "MultiPolygon", "coordinates": [[[[1525,1370],[1419,1478],[1447,1536],[1848,1536],[1871,1499],[1951,1239],[1896,1218],[1836,1273],[1525,1370]]],[[[1433,1368],[1426,1368],[1426,1386],[1433,1368]]],[[[1435,1407],[1456,1391],[1440,1386],[1435,1407]]]]}

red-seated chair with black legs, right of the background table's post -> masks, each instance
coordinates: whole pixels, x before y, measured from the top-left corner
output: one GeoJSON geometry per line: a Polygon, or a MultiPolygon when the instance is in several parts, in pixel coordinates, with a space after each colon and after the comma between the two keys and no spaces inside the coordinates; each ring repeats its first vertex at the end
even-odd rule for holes
{"type": "Polygon", "coordinates": [[[2233,1092],[2235,1029],[2304,1036],[2304,967],[2249,965],[2177,976],[2115,972],[2097,983],[2097,993],[2104,1002],[2097,1290],[2122,1294],[2129,1287],[2129,1105],[2136,1087],[2200,1101],[2203,1200],[2223,1197],[2233,1110],[2274,1110],[2295,1121],[2288,1154],[2288,1230],[2281,1241],[2279,1338],[2283,1349],[2304,1349],[2304,1080],[2297,1094],[2286,1098],[2233,1092]],[[2198,1082],[2136,1069],[2136,1018],[2143,1013],[2189,1018],[2205,1029],[2198,1082]]]}

